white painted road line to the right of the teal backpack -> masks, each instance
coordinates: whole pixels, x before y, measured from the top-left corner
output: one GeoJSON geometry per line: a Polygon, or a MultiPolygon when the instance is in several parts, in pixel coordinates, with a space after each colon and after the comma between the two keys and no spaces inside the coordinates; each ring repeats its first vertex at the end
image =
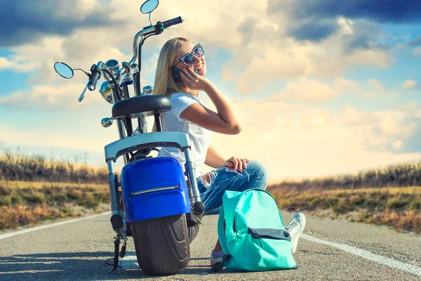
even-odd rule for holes
{"type": "Polygon", "coordinates": [[[376,263],[384,264],[385,266],[390,266],[391,268],[396,268],[399,270],[406,271],[407,273],[412,273],[418,276],[421,276],[421,267],[420,266],[413,266],[409,263],[403,263],[401,261],[396,261],[394,259],[386,258],[385,256],[380,256],[378,254],[373,254],[370,251],[366,251],[364,249],[360,249],[357,247],[349,246],[347,244],[340,244],[336,242],[330,242],[326,240],[322,240],[307,234],[302,233],[300,236],[302,239],[309,240],[312,242],[325,244],[330,247],[335,247],[341,249],[342,251],[347,251],[348,253],[354,254],[356,256],[361,256],[364,259],[368,259],[370,261],[375,261],[376,263]]]}

